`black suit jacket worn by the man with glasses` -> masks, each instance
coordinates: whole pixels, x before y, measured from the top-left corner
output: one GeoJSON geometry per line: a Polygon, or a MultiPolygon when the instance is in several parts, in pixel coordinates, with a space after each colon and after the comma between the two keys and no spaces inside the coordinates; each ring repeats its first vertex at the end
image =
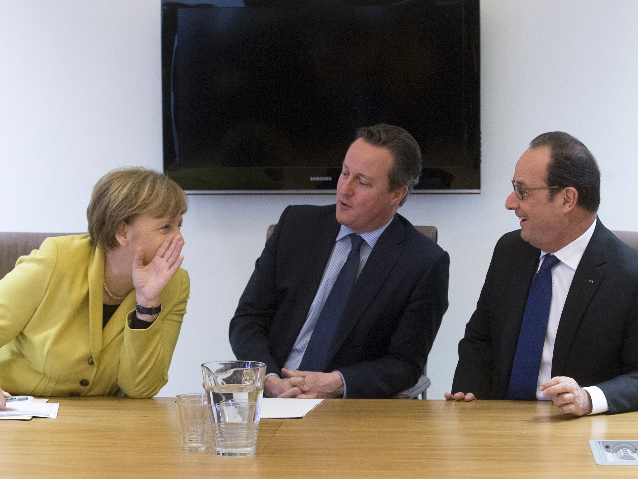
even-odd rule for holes
{"type": "MultiPolygon", "coordinates": [[[[521,230],[499,239],[477,309],[459,342],[452,392],[506,399],[540,250],[521,230]]],[[[638,254],[600,220],[563,307],[552,377],[598,386],[610,413],[638,410],[638,254]]]]}

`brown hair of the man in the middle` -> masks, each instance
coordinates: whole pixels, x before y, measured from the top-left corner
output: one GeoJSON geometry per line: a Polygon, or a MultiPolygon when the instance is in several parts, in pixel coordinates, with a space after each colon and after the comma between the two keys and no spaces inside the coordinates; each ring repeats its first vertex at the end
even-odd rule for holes
{"type": "Polygon", "coordinates": [[[417,141],[400,126],[381,125],[364,126],[357,130],[357,139],[362,138],[374,146],[387,148],[392,153],[392,166],[388,170],[390,191],[408,186],[408,192],[399,206],[408,198],[412,188],[419,183],[421,176],[421,149],[417,141]]]}

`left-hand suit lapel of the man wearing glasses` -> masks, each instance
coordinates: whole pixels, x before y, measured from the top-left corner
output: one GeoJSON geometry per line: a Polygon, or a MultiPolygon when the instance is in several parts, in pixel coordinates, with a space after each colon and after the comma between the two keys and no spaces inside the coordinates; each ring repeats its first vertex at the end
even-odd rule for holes
{"type": "Polygon", "coordinates": [[[538,261],[540,261],[538,248],[534,248],[529,243],[524,243],[524,246],[526,249],[521,255],[520,261],[514,266],[507,296],[507,319],[501,337],[501,379],[503,384],[501,384],[500,390],[502,392],[508,389],[527,297],[530,294],[531,282],[538,268],[538,261]]]}

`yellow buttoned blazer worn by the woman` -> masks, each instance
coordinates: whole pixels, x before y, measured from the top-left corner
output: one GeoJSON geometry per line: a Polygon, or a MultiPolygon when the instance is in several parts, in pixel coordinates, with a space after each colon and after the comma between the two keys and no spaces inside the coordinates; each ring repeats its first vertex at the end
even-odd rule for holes
{"type": "Polygon", "coordinates": [[[161,313],[129,328],[131,291],[102,329],[104,252],[88,234],[47,238],[0,280],[0,388],[34,396],[151,397],[168,366],[186,313],[181,268],[161,293],[161,313]]]}

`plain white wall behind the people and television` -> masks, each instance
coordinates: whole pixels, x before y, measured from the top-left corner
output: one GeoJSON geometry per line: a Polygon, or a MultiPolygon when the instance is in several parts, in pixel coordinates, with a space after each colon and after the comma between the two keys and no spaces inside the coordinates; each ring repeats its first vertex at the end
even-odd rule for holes
{"type": "MultiPolygon", "coordinates": [[[[0,0],[0,231],[85,231],[94,182],[122,165],[161,169],[158,0],[0,0]]],[[[449,390],[517,158],[565,130],[597,156],[600,218],[638,230],[638,2],[483,0],[482,193],[413,195],[401,214],[436,225],[451,257],[450,308],[429,356],[431,399],[449,390]]],[[[325,195],[194,196],[184,217],[191,300],[170,380],[198,390],[198,365],[232,357],[228,321],[267,225],[325,195]]]]}

